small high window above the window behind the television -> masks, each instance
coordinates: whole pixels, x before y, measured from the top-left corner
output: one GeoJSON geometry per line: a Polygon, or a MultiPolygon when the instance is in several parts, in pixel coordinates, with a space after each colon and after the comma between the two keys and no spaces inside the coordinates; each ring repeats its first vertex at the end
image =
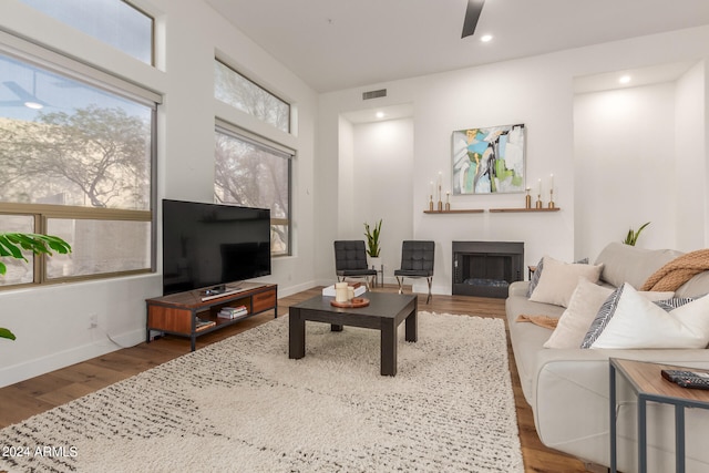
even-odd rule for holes
{"type": "Polygon", "coordinates": [[[290,132],[290,105],[234,69],[215,60],[214,96],[257,119],[290,132]]]}

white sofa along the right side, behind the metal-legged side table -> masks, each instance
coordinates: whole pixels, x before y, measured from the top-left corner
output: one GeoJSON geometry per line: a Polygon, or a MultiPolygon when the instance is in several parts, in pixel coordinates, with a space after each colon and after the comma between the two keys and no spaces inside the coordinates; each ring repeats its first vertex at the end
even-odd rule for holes
{"type": "MultiPolygon", "coordinates": [[[[639,288],[651,274],[678,255],[681,253],[610,244],[594,261],[594,265],[604,265],[598,284],[617,287],[627,281],[639,288]]],[[[524,397],[534,412],[540,439],[552,449],[608,466],[609,357],[709,369],[707,349],[544,348],[553,329],[517,321],[517,317],[545,315],[558,318],[565,308],[530,300],[528,284],[511,285],[506,315],[524,397]]],[[[676,297],[699,297],[707,292],[709,271],[693,276],[676,291],[676,297]]],[[[620,380],[618,401],[618,469],[631,472],[637,470],[637,404],[629,385],[620,380]]],[[[687,471],[708,472],[709,411],[692,410],[686,422],[687,471]]],[[[653,472],[675,471],[672,407],[648,404],[648,464],[653,472]]]]}

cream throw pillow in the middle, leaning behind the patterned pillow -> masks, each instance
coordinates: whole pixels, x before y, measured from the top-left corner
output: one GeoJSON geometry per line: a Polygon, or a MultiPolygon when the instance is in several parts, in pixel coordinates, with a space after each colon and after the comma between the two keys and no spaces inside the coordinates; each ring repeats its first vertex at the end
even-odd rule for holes
{"type": "Polygon", "coordinates": [[[612,292],[613,288],[598,286],[582,277],[572,294],[568,308],[559,317],[544,348],[580,347],[590,322],[594,321],[598,309],[612,292]]]}

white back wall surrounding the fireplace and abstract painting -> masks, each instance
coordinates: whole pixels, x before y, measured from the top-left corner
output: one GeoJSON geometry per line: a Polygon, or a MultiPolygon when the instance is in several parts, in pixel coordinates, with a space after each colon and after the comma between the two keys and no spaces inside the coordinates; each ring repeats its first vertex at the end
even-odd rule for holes
{"type": "MultiPolygon", "coordinates": [[[[577,254],[575,245],[577,234],[588,230],[584,223],[585,216],[580,215],[582,209],[586,210],[586,208],[580,205],[579,200],[590,202],[588,205],[592,206],[595,202],[595,194],[586,195],[576,189],[585,176],[579,176],[575,168],[577,160],[574,157],[574,78],[677,61],[706,60],[709,52],[705,44],[708,42],[709,28],[703,27],[323,94],[319,102],[318,127],[325,132],[320,133],[318,138],[318,160],[327,161],[327,166],[318,166],[316,169],[316,181],[323,183],[318,194],[316,213],[321,213],[318,210],[321,205],[325,208],[325,204],[321,203],[338,198],[338,134],[336,128],[340,115],[373,106],[412,103],[414,107],[414,145],[410,202],[413,223],[411,237],[436,241],[435,292],[450,294],[451,291],[452,240],[524,241],[525,264],[527,265],[536,264],[544,254],[571,260],[577,254]],[[387,89],[388,96],[362,102],[362,92],[378,89],[387,89]],[[445,187],[450,187],[448,183],[451,178],[452,131],[513,123],[524,123],[527,127],[527,183],[534,187],[537,179],[543,178],[545,182],[544,200],[547,200],[548,185],[546,182],[548,175],[554,173],[555,200],[561,210],[551,214],[423,214],[423,196],[428,194],[429,183],[435,179],[439,172],[444,173],[445,187]]],[[[693,79],[687,79],[688,82],[691,82],[691,85],[686,86],[686,90],[689,91],[687,94],[692,99],[686,99],[686,101],[697,100],[693,95],[697,82],[703,84],[705,90],[707,88],[706,78],[700,76],[699,72],[696,72],[693,79]]],[[[674,99],[668,94],[671,95],[668,90],[660,86],[648,93],[648,99],[654,105],[659,106],[662,113],[675,115],[678,113],[677,107],[674,99]]],[[[706,113],[706,99],[699,97],[698,103],[700,103],[698,105],[701,109],[700,112],[706,113]]],[[[647,109],[646,112],[657,113],[656,110],[647,111],[647,109]]],[[[685,125],[696,123],[697,113],[690,112],[688,106],[682,106],[679,113],[684,116],[681,120],[685,125]]],[[[659,122],[654,119],[643,117],[641,120],[643,122],[649,120],[648,126],[656,131],[659,122]]],[[[697,151],[697,158],[706,162],[707,125],[702,123],[696,126],[699,128],[698,137],[705,143],[703,151],[697,151]]],[[[659,146],[662,154],[672,161],[676,160],[678,151],[674,147],[674,138],[668,147],[667,143],[658,136],[644,136],[643,131],[637,131],[637,128],[633,133],[636,140],[644,142],[643,154],[647,154],[650,142],[659,138],[660,143],[657,143],[655,148],[659,146]]],[[[680,132],[675,130],[672,123],[670,130],[662,136],[672,136],[675,133],[678,133],[679,136],[680,132]]],[[[702,173],[700,174],[705,178],[698,183],[699,187],[692,193],[695,195],[692,202],[695,203],[707,199],[707,172],[702,173]]],[[[657,220],[657,225],[651,225],[655,228],[649,227],[647,234],[643,235],[641,241],[658,247],[690,245],[679,241],[677,235],[679,233],[705,235],[707,228],[706,207],[703,215],[696,215],[697,218],[686,218],[679,227],[680,223],[675,224],[675,213],[677,205],[679,205],[678,200],[684,197],[675,192],[672,174],[667,181],[668,183],[662,183],[661,187],[664,192],[668,191],[669,195],[664,195],[658,199],[661,200],[659,204],[660,214],[658,214],[660,217],[658,218],[669,217],[671,223],[668,224],[668,227],[659,228],[662,225],[657,220]]],[[[641,188],[641,193],[654,191],[658,186],[657,173],[639,175],[635,186],[641,188]]],[[[404,192],[403,187],[391,186],[393,195],[404,192]]],[[[618,198],[625,202],[629,194],[631,191],[626,191],[618,198]]],[[[647,198],[656,202],[655,194],[647,198]]],[[[522,207],[523,205],[524,195],[522,194],[458,196],[452,199],[453,208],[522,207]]],[[[602,209],[598,207],[595,212],[602,212],[602,209]]],[[[374,206],[370,208],[372,213],[376,210],[379,208],[374,206]]],[[[639,215],[637,218],[643,219],[639,215]]],[[[655,220],[655,214],[647,219],[655,220]]],[[[620,236],[616,236],[616,230],[612,232],[608,228],[609,234],[603,236],[606,240],[617,240],[625,237],[627,225],[634,224],[635,216],[634,218],[626,216],[619,220],[623,222],[624,227],[617,230],[620,232],[620,236]]],[[[387,225],[387,220],[384,220],[384,225],[387,225]]],[[[318,224],[318,228],[322,246],[328,250],[331,247],[331,240],[342,236],[338,233],[337,222],[323,226],[318,224]]],[[[588,244],[588,251],[596,251],[595,245],[597,243],[588,244]]],[[[327,254],[323,255],[327,256],[327,254]]],[[[584,256],[595,258],[597,254],[584,256]]],[[[331,257],[319,258],[316,274],[321,276],[331,273],[332,265],[331,257]]],[[[423,290],[423,288],[419,286],[417,290],[423,290]]]]}

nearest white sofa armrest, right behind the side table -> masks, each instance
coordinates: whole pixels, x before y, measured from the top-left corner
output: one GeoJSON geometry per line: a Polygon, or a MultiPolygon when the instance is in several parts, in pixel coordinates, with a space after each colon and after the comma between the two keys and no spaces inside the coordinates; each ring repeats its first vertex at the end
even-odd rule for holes
{"type": "MultiPolygon", "coordinates": [[[[706,349],[540,350],[531,405],[542,443],[593,463],[607,464],[609,357],[709,369],[709,350],[706,349]]],[[[621,450],[634,453],[637,449],[636,394],[626,382],[619,381],[617,389],[617,401],[621,405],[618,408],[617,420],[621,438],[619,441],[621,445],[631,445],[619,450],[618,466],[623,471],[633,471],[636,467],[633,463],[634,455],[621,450]]],[[[692,413],[692,420],[688,420],[687,439],[702,439],[706,435],[709,412],[697,411],[701,412],[692,413]]],[[[672,451],[674,439],[660,439],[658,435],[649,435],[648,439],[649,451],[672,451]]],[[[706,449],[695,445],[692,452],[692,455],[697,455],[693,460],[699,461],[702,467],[706,466],[709,461],[706,449]]],[[[674,460],[672,455],[668,457],[674,460]]],[[[656,471],[671,469],[660,467],[656,471]]]]}

